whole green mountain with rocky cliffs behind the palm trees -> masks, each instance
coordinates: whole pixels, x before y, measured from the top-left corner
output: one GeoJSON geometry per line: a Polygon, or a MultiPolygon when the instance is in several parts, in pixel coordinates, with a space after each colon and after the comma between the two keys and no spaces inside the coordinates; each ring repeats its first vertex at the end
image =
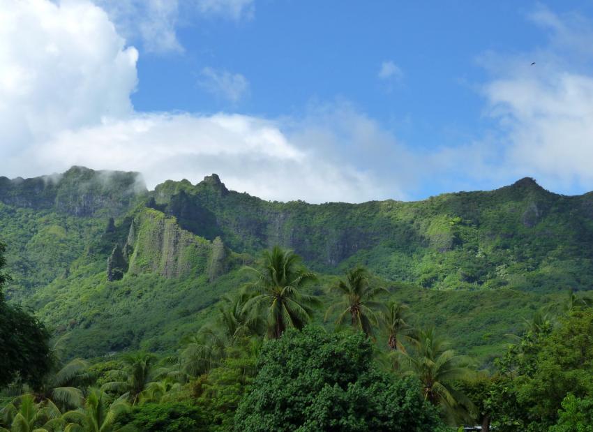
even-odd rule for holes
{"type": "Polygon", "coordinates": [[[419,323],[488,359],[520,317],[592,288],[593,194],[522,179],[421,202],[282,203],[229,191],[216,174],[147,191],[135,173],[73,167],[0,177],[0,241],[10,301],[69,334],[70,355],[174,350],[245,282],[241,267],[279,244],[320,273],[310,289],[325,304],[335,275],[366,265],[419,323]]]}

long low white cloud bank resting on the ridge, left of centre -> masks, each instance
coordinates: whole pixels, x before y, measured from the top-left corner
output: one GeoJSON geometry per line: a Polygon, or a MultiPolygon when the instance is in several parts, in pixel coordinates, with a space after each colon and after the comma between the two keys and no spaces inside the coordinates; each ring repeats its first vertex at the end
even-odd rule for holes
{"type": "Polygon", "coordinates": [[[140,171],[150,187],[216,172],[229,188],[277,200],[365,200],[376,191],[366,174],[297,147],[276,122],[237,114],[135,114],[63,131],[22,158],[36,172],[70,165],[140,171]]]}

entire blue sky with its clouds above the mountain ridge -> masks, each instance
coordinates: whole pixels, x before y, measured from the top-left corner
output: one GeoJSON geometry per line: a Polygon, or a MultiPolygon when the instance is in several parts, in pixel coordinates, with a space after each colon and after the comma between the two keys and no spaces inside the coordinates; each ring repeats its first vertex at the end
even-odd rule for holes
{"type": "Polygon", "coordinates": [[[21,23],[0,31],[0,174],[218,172],[312,202],[593,190],[591,1],[0,4],[21,23]]]}

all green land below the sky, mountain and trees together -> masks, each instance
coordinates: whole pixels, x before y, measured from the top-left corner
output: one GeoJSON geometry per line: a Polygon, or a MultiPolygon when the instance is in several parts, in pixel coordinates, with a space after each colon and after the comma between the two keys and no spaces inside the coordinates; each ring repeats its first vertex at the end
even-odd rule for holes
{"type": "Polygon", "coordinates": [[[590,430],[592,209],[0,178],[0,431],[590,430]]]}

